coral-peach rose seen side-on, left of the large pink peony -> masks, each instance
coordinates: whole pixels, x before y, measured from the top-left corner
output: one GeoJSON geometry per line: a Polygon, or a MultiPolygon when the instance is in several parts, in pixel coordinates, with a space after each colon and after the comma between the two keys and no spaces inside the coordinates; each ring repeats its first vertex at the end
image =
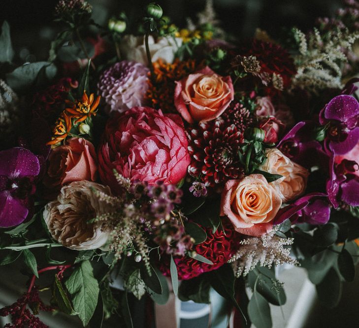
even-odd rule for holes
{"type": "Polygon", "coordinates": [[[95,181],[97,178],[95,147],[83,138],[68,139],[64,146],[53,149],[48,163],[44,177],[44,184],[48,188],[60,189],[72,181],[95,181]]]}

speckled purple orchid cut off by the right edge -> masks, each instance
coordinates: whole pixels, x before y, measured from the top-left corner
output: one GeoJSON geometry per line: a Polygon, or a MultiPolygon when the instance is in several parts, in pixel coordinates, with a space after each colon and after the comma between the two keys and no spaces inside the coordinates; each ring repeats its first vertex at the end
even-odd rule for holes
{"type": "Polygon", "coordinates": [[[359,102],[341,94],[329,101],[321,111],[320,122],[328,125],[325,148],[336,155],[346,154],[359,141],[359,102]]]}

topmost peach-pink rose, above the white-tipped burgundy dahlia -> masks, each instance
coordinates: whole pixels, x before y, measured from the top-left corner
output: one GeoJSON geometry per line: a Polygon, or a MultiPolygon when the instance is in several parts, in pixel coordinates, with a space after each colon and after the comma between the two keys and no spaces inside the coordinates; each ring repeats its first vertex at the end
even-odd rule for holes
{"type": "Polygon", "coordinates": [[[174,105],[187,122],[205,122],[218,118],[233,97],[230,77],[219,76],[207,66],[176,81],[174,105]]]}

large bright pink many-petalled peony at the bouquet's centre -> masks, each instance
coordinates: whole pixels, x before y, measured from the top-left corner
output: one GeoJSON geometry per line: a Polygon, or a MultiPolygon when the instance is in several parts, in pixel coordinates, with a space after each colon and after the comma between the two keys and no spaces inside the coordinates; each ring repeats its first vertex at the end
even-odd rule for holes
{"type": "Polygon", "coordinates": [[[109,119],[98,151],[99,175],[119,192],[113,169],[125,178],[176,184],[190,164],[188,140],[180,116],[149,107],[133,107],[109,119]]]}

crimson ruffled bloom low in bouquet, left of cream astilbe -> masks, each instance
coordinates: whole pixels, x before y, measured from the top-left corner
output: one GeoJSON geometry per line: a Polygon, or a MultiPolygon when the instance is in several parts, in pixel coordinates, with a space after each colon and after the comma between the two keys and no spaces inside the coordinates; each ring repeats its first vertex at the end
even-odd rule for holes
{"type": "MultiPolygon", "coordinates": [[[[220,268],[228,262],[232,255],[238,250],[240,234],[235,232],[227,222],[223,224],[224,231],[220,228],[213,234],[212,230],[205,229],[207,239],[196,245],[194,250],[197,254],[204,256],[212,261],[213,265],[199,262],[188,256],[174,256],[177,267],[178,279],[187,280],[194,278],[204,272],[220,268]]],[[[160,270],[164,275],[169,276],[170,257],[162,254],[160,270]]]]}

